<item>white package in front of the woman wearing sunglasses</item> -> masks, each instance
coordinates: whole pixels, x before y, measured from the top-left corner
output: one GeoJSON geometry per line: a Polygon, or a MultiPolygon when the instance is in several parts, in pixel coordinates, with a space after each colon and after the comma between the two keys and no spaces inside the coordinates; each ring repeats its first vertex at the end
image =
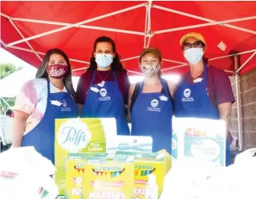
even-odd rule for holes
{"type": "Polygon", "coordinates": [[[173,163],[175,160],[205,160],[226,165],[226,122],[173,117],[173,163]]]}

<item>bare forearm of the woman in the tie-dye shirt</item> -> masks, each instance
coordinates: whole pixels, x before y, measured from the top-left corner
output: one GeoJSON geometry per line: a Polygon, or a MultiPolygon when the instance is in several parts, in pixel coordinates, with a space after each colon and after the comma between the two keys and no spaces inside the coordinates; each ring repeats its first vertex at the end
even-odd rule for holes
{"type": "Polygon", "coordinates": [[[25,132],[26,123],[24,122],[15,122],[14,123],[14,134],[12,140],[12,147],[20,147],[22,145],[22,137],[25,132]]]}

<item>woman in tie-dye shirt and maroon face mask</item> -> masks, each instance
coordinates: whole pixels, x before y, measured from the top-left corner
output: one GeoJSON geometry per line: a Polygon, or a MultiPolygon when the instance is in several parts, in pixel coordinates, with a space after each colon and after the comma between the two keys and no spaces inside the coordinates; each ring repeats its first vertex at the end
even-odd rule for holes
{"type": "Polygon", "coordinates": [[[63,51],[51,49],[36,79],[25,83],[16,97],[12,146],[34,146],[55,164],[55,119],[77,116],[71,64],[63,51]]]}

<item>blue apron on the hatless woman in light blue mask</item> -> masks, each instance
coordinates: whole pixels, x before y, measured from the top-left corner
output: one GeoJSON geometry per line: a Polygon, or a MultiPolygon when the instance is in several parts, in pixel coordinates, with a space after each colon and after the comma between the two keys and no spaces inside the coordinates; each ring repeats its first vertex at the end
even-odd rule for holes
{"type": "Polygon", "coordinates": [[[104,85],[93,84],[87,91],[87,97],[80,117],[116,118],[117,135],[129,136],[130,131],[125,116],[124,99],[116,81],[116,73],[112,71],[115,81],[106,81],[104,85]]]}

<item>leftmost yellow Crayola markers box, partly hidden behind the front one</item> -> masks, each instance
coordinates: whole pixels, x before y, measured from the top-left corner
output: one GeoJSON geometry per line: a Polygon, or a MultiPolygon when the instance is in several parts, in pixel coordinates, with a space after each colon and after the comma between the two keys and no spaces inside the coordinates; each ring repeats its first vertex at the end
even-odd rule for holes
{"type": "Polygon", "coordinates": [[[64,195],[66,198],[80,199],[82,198],[83,190],[83,175],[85,164],[87,164],[87,158],[97,156],[104,157],[108,156],[108,153],[70,153],[67,158],[67,167],[66,167],[66,180],[65,180],[65,192],[64,195]]]}

